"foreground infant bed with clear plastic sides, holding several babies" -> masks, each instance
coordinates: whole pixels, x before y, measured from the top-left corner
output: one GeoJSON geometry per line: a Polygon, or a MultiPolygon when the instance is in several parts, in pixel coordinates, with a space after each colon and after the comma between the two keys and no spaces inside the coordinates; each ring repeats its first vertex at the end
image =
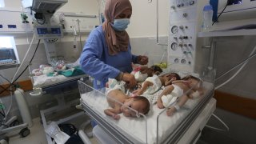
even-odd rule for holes
{"type": "Polygon", "coordinates": [[[182,106],[171,117],[166,116],[167,109],[158,109],[154,104],[150,107],[149,114],[140,114],[140,118],[127,118],[120,114],[121,118],[116,121],[104,114],[104,110],[108,108],[104,89],[94,90],[89,80],[78,81],[78,86],[83,109],[117,143],[194,141],[194,137],[200,134],[203,126],[213,113],[216,102],[212,98],[214,95],[213,82],[203,79],[203,96],[197,99],[189,99],[185,106],[182,106]],[[182,138],[184,134],[187,137],[185,140],[182,138]],[[187,134],[190,136],[187,136],[187,134]]]}

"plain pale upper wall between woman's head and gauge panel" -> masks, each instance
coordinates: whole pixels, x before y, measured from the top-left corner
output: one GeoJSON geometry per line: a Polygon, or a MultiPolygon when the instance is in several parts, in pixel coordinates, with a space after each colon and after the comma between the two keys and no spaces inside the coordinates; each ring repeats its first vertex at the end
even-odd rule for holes
{"type": "MultiPolygon", "coordinates": [[[[133,14],[127,32],[130,38],[156,37],[156,0],[130,0],[133,14]]],[[[159,35],[168,35],[169,0],[159,0],[159,35]]]]}

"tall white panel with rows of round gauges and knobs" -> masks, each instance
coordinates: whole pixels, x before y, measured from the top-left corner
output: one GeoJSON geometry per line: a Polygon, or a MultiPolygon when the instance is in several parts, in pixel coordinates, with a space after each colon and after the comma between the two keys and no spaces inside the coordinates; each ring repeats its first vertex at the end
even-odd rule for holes
{"type": "Polygon", "coordinates": [[[170,0],[168,62],[173,70],[194,72],[198,54],[197,33],[200,31],[202,5],[199,0],[170,0]]]}

